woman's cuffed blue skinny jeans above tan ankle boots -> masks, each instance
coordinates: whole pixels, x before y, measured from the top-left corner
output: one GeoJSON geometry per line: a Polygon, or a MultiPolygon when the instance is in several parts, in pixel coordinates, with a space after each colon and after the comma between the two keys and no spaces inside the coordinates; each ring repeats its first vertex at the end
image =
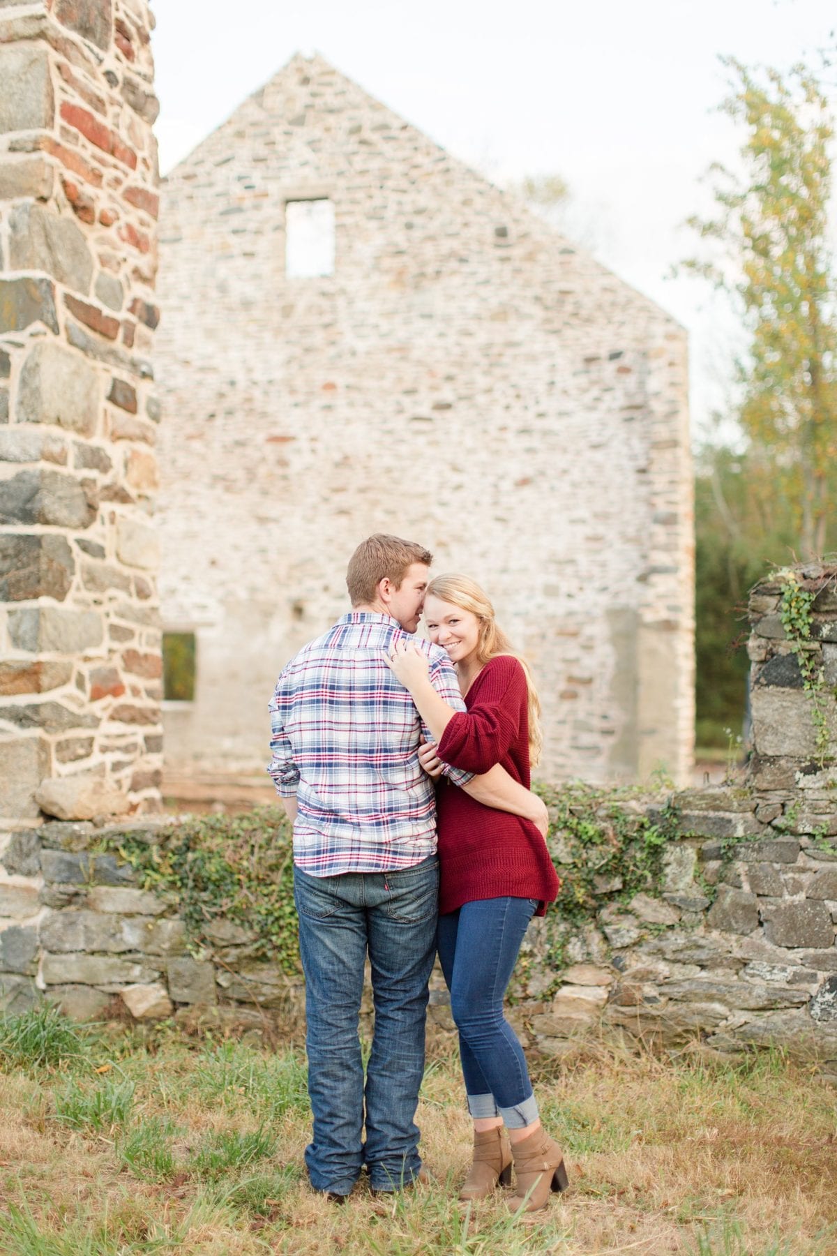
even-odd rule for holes
{"type": "Polygon", "coordinates": [[[459,1030],[472,1117],[502,1117],[509,1129],[537,1120],[526,1056],[503,1015],[503,996],[537,903],[482,898],[439,917],[437,945],[459,1030]]]}

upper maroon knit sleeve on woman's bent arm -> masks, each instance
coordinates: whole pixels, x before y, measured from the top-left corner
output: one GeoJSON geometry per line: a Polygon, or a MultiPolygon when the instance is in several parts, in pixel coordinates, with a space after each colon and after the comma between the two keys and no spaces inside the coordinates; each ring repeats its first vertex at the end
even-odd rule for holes
{"type": "Polygon", "coordinates": [[[457,712],[439,741],[439,759],[469,772],[487,772],[499,764],[520,727],[526,676],[516,658],[492,658],[474,685],[479,688],[468,711],[457,712]]]}

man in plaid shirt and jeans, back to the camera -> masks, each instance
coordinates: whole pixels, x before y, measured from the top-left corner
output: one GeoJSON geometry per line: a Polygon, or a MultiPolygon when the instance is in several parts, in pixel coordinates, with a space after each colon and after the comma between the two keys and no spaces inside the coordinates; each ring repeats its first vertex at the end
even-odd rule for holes
{"type": "MultiPolygon", "coordinates": [[[[387,654],[418,628],[430,561],[398,536],[363,541],[346,573],[351,612],[290,661],[270,703],[269,771],[294,824],[314,1113],[305,1163],[314,1189],[334,1201],[351,1192],[364,1164],[380,1192],[409,1186],[422,1168],[414,1117],[435,956],[435,801],[418,761],[419,715],[387,654]],[[375,1029],[364,1085],[366,955],[375,1029]]],[[[444,651],[417,646],[437,692],[464,711],[444,651]]],[[[545,826],[541,800],[501,767],[478,777],[445,771],[479,801],[526,806],[545,826]]]]}

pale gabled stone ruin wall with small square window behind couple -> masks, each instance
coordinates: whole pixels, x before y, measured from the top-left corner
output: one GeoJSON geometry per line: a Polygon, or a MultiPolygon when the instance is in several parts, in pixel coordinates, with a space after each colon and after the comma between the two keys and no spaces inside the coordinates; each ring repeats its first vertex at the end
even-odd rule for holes
{"type": "Polygon", "coordinates": [[[159,230],[167,766],[264,779],[279,669],[392,531],[493,595],[545,779],[686,777],[681,328],[320,57],[173,170],[159,230]]]}

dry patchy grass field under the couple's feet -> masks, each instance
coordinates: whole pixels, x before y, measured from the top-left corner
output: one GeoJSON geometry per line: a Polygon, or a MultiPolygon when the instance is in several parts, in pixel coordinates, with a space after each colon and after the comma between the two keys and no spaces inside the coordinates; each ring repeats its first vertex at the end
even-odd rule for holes
{"type": "Polygon", "coordinates": [[[456,1060],[424,1079],[435,1178],[344,1208],[301,1163],[304,1059],[166,1026],[0,1022],[0,1252],[117,1256],[837,1253],[834,1091],[778,1055],[745,1066],[587,1048],[537,1079],[571,1189],[533,1221],[456,1193],[469,1150],[456,1060]]]}

